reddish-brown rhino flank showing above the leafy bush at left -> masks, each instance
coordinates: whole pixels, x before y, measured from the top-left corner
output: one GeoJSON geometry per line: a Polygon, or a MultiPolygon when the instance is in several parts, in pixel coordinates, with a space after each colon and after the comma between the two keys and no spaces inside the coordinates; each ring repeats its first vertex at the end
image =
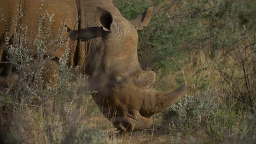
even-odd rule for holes
{"type": "MultiPolygon", "coordinates": [[[[3,11],[4,17],[6,17],[7,22],[10,23],[14,21],[18,16],[19,2],[21,2],[21,10],[23,17],[21,18],[22,27],[27,27],[28,29],[28,45],[33,45],[33,40],[36,37],[38,22],[40,19],[40,0],[8,0],[0,2],[0,9],[3,11]]],[[[59,29],[62,26],[63,19],[66,17],[66,25],[73,27],[73,22],[78,20],[77,4],[75,0],[45,0],[43,3],[43,13],[54,14],[53,24],[51,26],[51,31],[53,32],[53,39],[56,39],[59,34],[59,29]]],[[[6,28],[9,30],[9,37],[13,34],[16,23],[7,24],[4,21],[0,22],[0,43],[3,44],[4,41],[4,31],[6,28]]],[[[67,33],[64,35],[67,36],[67,33]]],[[[1,46],[0,49],[3,49],[1,46]]],[[[31,49],[33,49],[31,47],[31,49]]],[[[48,52],[53,51],[54,47],[49,47],[48,52]]],[[[3,50],[2,50],[3,51],[3,50]]],[[[61,47],[55,52],[55,57],[61,57],[65,47],[61,47]]],[[[1,52],[1,50],[0,50],[1,52]]],[[[2,53],[0,53],[2,56],[2,53]]]]}

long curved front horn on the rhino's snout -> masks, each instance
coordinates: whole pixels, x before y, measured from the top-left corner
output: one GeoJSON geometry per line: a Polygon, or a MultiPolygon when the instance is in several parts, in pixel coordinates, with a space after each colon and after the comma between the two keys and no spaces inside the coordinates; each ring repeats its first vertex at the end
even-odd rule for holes
{"type": "Polygon", "coordinates": [[[139,112],[144,117],[151,117],[155,113],[165,111],[176,103],[184,94],[187,86],[183,85],[172,93],[165,93],[149,89],[145,95],[139,112]]]}

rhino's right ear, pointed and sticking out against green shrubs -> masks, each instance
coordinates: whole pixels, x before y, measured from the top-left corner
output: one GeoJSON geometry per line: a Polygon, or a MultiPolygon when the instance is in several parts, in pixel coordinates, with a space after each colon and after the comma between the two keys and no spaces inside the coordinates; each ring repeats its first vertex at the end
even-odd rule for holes
{"type": "Polygon", "coordinates": [[[144,13],[139,14],[137,17],[131,20],[131,23],[137,30],[142,30],[144,27],[148,26],[153,13],[153,7],[149,7],[144,13]]]}

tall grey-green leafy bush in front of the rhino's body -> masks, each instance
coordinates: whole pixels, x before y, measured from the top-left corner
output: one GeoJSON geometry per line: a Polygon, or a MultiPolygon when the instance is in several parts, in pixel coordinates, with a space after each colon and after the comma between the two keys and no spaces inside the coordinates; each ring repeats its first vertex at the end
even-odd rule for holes
{"type": "MultiPolygon", "coordinates": [[[[18,22],[23,16],[21,9],[18,11],[18,19],[14,22],[16,23],[16,28],[14,29],[11,40],[8,37],[8,33],[5,33],[4,49],[7,51],[7,59],[9,61],[8,63],[10,63],[9,67],[14,67],[15,69],[14,71],[11,71],[9,76],[19,76],[19,80],[15,85],[16,91],[5,95],[5,101],[14,100],[12,101],[14,104],[18,103],[18,101],[27,104],[35,104],[36,102],[40,104],[49,97],[59,95],[60,93],[56,92],[59,92],[59,90],[65,86],[67,81],[70,80],[71,73],[67,73],[68,43],[65,43],[67,38],[63,38],[62,36],[65,32],[63,29],[66,20],[63,20],[59,35],[54,39],[51,35],[51,25],[54,21],[53,15],[43,13],[42,7],[40,8],[40,11],[40,20],[33,46],[28,43],[29,39],[27,39],[29,37],[28,31],[30,31],[30,29],[22,26],[22,24],[18,22]],[[60,69],[59,71],[56,71],[56,73],[59,72],[59,80],[55,87],[56,89],[53,89],[50,87],[51,81],[46,83],[43,79],[43,75],[49,72],[43,70],[44,64],[51,61],[51,59],[54,59],[54,52],[65,45],[67,51],[59,61],[60,69]],[[51,47],[54,47],[54,49],[49,51],[51,47]],[[34,55],[34,53],[36,53],[36,55],[34,55]]],[[[54,76],[52,81],[54,81],[56,77],[57,76],[54,76]]],[[[68,91],[69,89],[66,90],[68,91]]]]}

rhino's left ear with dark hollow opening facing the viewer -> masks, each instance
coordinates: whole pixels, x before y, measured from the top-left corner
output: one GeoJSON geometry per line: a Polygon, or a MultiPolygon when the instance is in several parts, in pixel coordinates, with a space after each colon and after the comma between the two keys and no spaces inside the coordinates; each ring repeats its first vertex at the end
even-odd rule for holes
{"type": "Polygon", "coordinates": [[[112,30],[113,16],[109,11],[97,7],[96,23],[98,27],[102,27],[104,31],[110,32],[112,30]]]}

